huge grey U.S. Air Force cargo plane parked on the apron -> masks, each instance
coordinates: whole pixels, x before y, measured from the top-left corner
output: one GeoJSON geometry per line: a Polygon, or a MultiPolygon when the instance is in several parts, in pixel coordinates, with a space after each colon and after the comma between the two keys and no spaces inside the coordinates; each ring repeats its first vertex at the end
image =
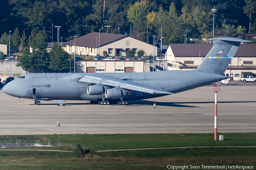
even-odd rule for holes
{"type": "Polygon", "coordinates": [[[228,64],[241,42],[223,37],[209,39],[214,46],[195,70],[144,73],[27,73],[3,87],[14,97],[40,100],[89,100],[99,105],[128,104],[190,90],[229,78],[228,64]]]}

